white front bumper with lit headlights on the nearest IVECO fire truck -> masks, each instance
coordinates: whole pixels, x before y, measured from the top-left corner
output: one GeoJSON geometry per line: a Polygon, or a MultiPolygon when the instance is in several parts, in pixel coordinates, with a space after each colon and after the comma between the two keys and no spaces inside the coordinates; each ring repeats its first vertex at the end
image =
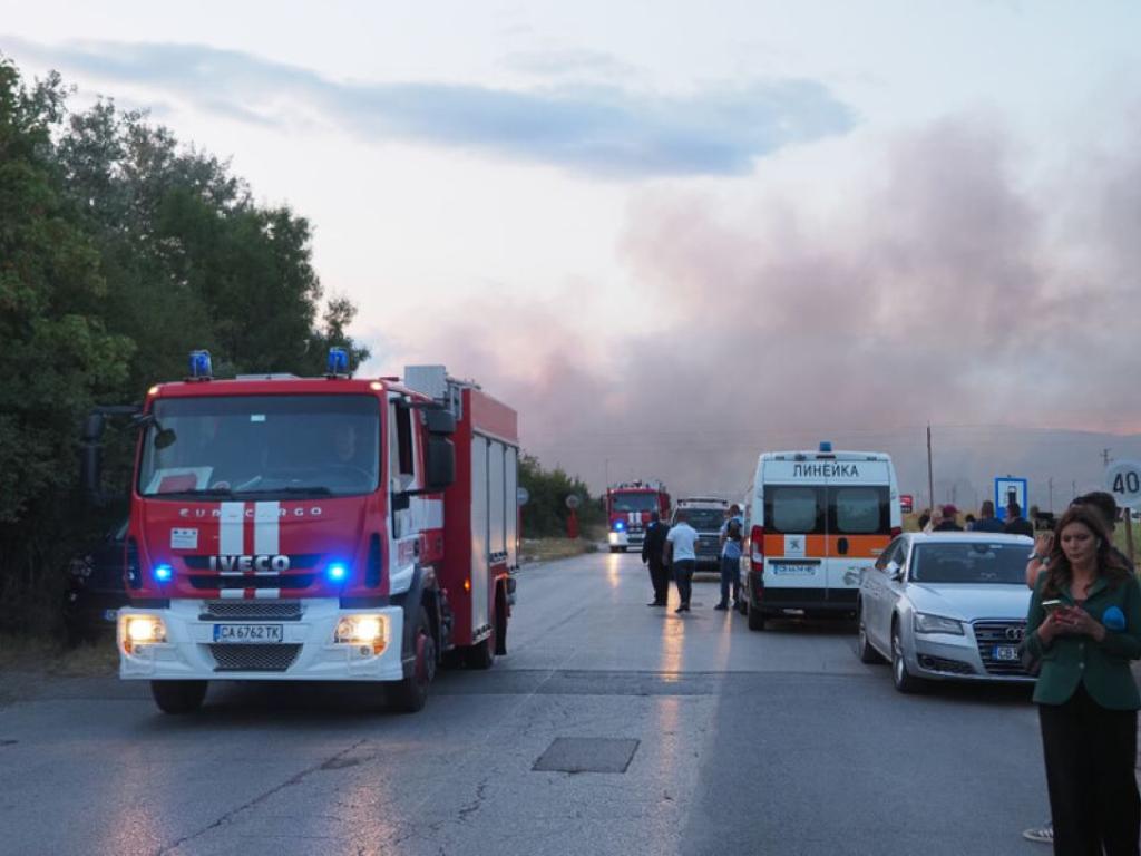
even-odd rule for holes
{"type": "Polygon", "coordinates": [[[126,680],[400,680],[399,607],[342,609],[337,598],[300,601],[172,600],[119,611],[119,677],[126,680]],[[282,608],[276,617],[242,604],[282,608]],[[208,604],[228,605],[212,612],[208,604]],[[296,614],[294,614],[296,613],[296,614]],[[235,615],[242,617],[233,617],[235,615]]]}

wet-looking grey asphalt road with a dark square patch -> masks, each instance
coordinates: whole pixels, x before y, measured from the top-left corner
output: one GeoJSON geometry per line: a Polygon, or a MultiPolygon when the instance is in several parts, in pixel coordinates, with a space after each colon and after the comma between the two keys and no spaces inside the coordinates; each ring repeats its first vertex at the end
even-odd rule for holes
{"type": "MultiPolygon", "coordinates": [[[[645,606],[633,555],[525,568],[510,654],[414,716],[351,687],[18,683],[2,854],[1045,854],[1026,689],[901,696],[851,627],[645,606]]],[[[0,676],[0,680],[5,676],[0,676]]],[[[0,694],[2,695],[2,694],[0,694]]]]}

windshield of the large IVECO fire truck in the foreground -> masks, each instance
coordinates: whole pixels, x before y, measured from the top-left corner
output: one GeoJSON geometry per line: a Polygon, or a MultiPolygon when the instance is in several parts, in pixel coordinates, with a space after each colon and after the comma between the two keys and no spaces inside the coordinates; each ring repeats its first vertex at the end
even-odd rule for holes
{"type": "Polygon", "coordinates": [[[153,415],[138,475],[145,496],[341,496],[380,484],[371,396],[160,398],[153,415]]]}

